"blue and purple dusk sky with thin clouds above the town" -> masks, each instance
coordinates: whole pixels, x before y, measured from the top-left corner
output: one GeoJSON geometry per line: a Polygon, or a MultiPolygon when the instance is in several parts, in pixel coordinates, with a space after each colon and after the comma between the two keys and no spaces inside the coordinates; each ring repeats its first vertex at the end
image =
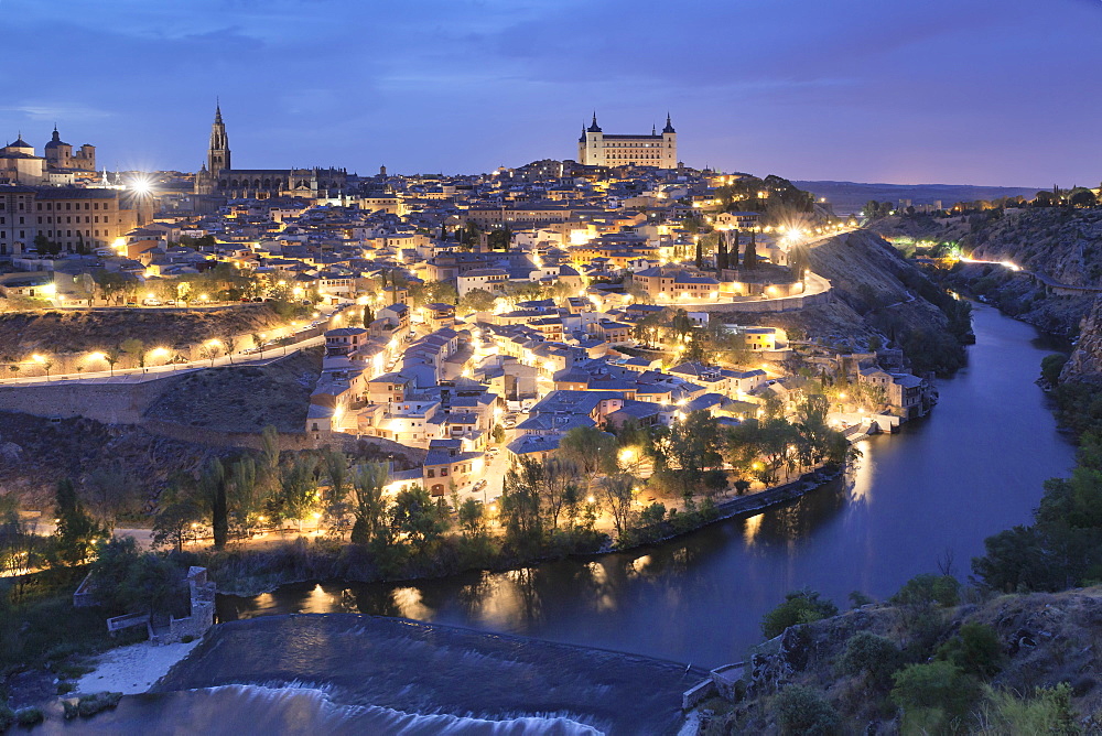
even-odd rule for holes
{"type": "Polygon", "coordinates": [[[670,112],[679,158],[1096,186],[1102,0],[0,0],[0,138],[194,171],[475,173],[670,112]]]}

